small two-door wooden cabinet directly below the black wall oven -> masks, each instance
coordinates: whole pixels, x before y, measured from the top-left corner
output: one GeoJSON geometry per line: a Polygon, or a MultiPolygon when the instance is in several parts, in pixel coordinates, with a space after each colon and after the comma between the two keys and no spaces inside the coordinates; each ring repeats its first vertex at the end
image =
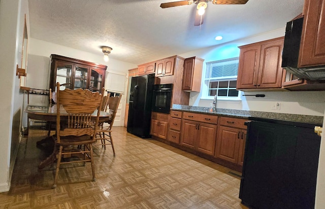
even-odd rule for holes
{"type": "Polygon", "coordinates": [[[159,138],[167,139],[169,114],[151,113],[150,134],[159,138]]]}

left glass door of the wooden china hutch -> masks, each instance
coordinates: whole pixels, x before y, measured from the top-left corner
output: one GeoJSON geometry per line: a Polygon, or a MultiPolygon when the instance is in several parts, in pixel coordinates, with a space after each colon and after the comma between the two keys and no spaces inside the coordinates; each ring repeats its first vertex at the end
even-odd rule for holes
{"type": "MultiPolygon", "coordinates": [[[[56,64],[56,82],[65,84],[60,86],[60,90],[70,88],[71,86],[71,73],[73,65],[65,62],[57,62],[56,64]]],[[[52,89],[55,91],[55,89],[52,89]]]]}

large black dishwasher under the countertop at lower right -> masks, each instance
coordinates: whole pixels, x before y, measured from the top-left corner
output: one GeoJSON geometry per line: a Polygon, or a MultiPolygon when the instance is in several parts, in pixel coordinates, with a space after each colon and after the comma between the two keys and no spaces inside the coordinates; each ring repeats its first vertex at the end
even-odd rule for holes
{"type": "Polygon", "coordinates": [[[249,118],[239,198],[252,208],[314,208],[321,124],[249,118]]]}

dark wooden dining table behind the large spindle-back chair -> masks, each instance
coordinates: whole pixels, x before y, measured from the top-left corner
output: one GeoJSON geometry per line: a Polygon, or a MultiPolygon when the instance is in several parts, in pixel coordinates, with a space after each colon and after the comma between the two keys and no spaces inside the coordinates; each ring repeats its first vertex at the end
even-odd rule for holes
{"type": "MultiPolygon", "coordinates": [[[[40,121],[56,121],[56,104],[50,104],[50,105],[27,105],[25,109],[25,113],[27,113],[28,119],[34,119],[34,120],[40,120],[40,121]]],[[[95,121],[97,116],[97,110],[94,111],[92,114],[92,118],[95,121]]],[[[62,106],[60,106],[60,116],[64,120],[64,116],[68,118],[68,113],[62,106]]],[[[110,113],[107,113],[105,111],[101,111],[99,122],[106,122],[109,120],[109,117],[111,116],[110,113]]],[[[47,157],[45,160],[43,160],[39,164],[39,169],[44,168],[45,166],[51,164],[54,159],[56,158],[56,149],[55,149],[55,139],[53,136],[48,136],[46,138],[43,138],[42,140],[38,141],[36,145],[38,147],[42,147],[43,144],[50,143],[53,145],[53,152],[50,154],[49,157],[47,157]]]]}

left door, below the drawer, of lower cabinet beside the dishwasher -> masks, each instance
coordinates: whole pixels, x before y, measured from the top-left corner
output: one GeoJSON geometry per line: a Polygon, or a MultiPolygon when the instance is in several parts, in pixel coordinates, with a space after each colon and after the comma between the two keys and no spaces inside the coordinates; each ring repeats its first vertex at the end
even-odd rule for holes
{"type": "Polygon", "coordinates": [[[241,130],[220,126],[218,131],[215,157],[232,163],[238,162],[241,130]]]}

